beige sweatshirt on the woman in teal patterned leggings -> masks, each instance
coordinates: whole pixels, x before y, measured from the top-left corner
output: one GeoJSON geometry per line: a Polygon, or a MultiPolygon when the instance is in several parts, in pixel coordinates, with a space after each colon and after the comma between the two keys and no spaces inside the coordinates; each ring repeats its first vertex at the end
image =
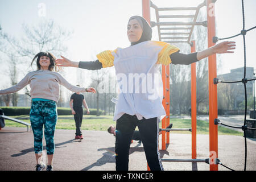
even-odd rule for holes
{"type": "Polygon", "coordinates": [[[18,92],[28,84],[30,84],[31,88],[31,98],[46,98],[55,102],[59,100],[59,84],[65,86],[65,88],[72,92],[85,92],[85,88],[69,84],[69,82],[58,72],[39,70],[27,73],[18,84],[0,90],[0,94],[18,92]]]}

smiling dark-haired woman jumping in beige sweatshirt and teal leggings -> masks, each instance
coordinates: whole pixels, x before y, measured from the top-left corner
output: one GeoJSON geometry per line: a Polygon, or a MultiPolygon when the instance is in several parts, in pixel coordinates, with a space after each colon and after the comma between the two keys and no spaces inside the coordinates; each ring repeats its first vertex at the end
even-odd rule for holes
{"type": "Polygon", "coordinates": [[[80,88],[69,84],[60,73],[56,72],[55,57],[49,52],[39,52],[31,62],[36,60],[37,71],[27,75],[16,85],[0,90],[0,94],[18,92],[24,86],[30,84],[31,88],[31,110],[30,122],[34,134],[34,150],[36,156],[36,171],[42,171],[46,165],[42,163],[43,151],[43,126],[46,139],[47,171],[52,171],[52,159],[55,149],[54,132],[57,122],[56,102],[59,100],[59,84],[72,92],[93,92],[90,88],[80,88]],[[55,71],[54,71],[55,69],[55,71]]]}

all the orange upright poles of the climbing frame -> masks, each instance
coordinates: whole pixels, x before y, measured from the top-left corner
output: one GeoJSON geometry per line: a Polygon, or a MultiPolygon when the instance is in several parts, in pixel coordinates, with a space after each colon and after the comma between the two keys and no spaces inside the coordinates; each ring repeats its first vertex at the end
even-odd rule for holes
{"type": "MultiPolygon", "coordinates": [[[[142,0],[142,15],[150,23],[150,0],[142,0]]],[[[208,21],[208,47],[214,46],[213,36],[216,34],[214,3],[207,0],[207,21],[208,21]]],[[[195,40],[192,40],[191,52],[195,52],[195,40]]],[[[218,130],[214,125],[214,118],[217,118],[217,85],[213,84],[213,78],[217,77],[216,55],[208,58],[209,70],[209,143],[210,159],[218,157],[218,130]]],[[[163,80],[163,106],[166,110],[166,117],[162,119],[162,129],[170,125],[170,69],[169,65],[162,65],[163,80]]],[[[196,159],[196,63],[191,64],[191,127],[192,127],[192,159],[196,159]]],[[[162,131],[162,150],[166,150],[166,144],[170,143],[170,133],[162,131]]],[[[150,168],[147,166],[147,169],[150,168]]],[[[217,171],[218,165],[210,162],[210,171],[217,171]]]]}

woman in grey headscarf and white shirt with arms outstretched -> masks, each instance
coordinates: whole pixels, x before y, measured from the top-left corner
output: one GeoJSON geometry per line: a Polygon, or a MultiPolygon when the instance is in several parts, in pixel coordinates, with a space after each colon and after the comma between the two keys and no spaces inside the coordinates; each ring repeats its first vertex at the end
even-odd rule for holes
{"type": "Polygon", "coordinates": [[[131,46],[104,51],[95,61],[71,61],[64,56],[56,64],[84,69],[115,68],[119,84],[118,102],[113,120],[116,124],[115,168],[126,171],[129,167],[129,148],[135,127],[138,126],[148,166],[163,170],[158,151],[159,120],[166,115],[162,105],[163,83],[159,72],[161,64],[191,64],[215,53],[231,53],[235,42],[222,42],[204,51],[185,55],[179,48],[165,42],[151,41],[152,29],[141,16],[131,16],[127,24],[131,46]],[[141,80],[134,82],[134,78],[141,80]],[[145,89],[145,82],[152,88],[145,89]],[[150,85],[150,84],[149,84],[150,85]],[[128,91],[127,91],[128,90],[128,91]],[[142,90],[142,91],[141,91],[142,90]]]}

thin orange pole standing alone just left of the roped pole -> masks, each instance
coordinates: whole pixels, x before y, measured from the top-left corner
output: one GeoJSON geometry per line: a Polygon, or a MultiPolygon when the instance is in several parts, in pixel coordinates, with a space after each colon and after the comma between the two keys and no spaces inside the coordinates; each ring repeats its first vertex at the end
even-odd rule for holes
{"type": "MultiPolygon", "coordinates": [[[[191,41],[191,52],[196,52],[196,42],[191,41]]],[[[196,159],[196,63],[191,64],[191,128],[192,159],[196,159]]]]}

